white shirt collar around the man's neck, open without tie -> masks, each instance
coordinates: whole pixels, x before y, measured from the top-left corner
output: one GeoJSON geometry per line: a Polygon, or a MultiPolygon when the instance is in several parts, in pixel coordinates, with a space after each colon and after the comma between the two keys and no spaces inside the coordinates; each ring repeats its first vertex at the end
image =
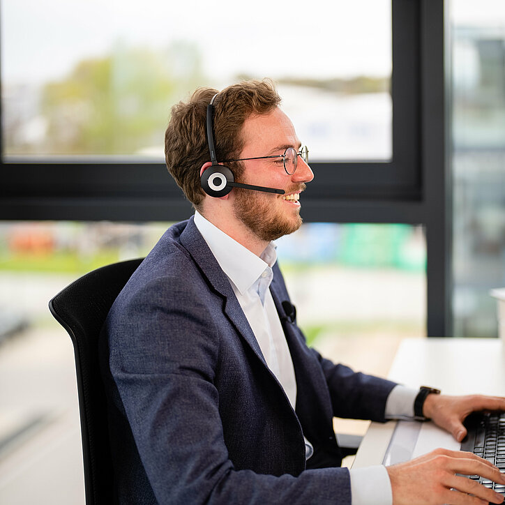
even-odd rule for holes
{"type": "Polygon", "coordinates": [[[277,261],[276,245],[270,242],[258,257],[195,211],[195,225],[212,254],[240,294],[244,294],[277,261]]]}

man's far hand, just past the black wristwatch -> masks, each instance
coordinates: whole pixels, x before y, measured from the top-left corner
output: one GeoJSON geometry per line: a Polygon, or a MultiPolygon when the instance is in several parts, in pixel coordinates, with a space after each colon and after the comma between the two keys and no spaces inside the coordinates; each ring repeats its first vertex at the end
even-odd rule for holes
{"type": "Polygon", "coordinates": [[[467,435],[463,421],[468,414],[478,410],[505,410],[505,398],[482,395],[428,395],[423,405],[423,414],[451,433],[458,442],[467,435]]]}

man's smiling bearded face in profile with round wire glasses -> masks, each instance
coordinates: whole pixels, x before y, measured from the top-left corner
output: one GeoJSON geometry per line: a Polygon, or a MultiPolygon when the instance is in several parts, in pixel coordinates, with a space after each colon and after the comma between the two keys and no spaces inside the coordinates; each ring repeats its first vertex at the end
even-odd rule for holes
{"type": "MultiPolygon", "coordinates": [[[[298,152],[300,141],[289,118],[279,108],[270,114],[246,119],[242,135],[245,146],[240,158],[283,154],[287,147],[298,152]]],[[[238,182],[267,186],[285,191],[285,195],[234,188],[235,217],[259,239],[276,240],[295,232],[301,226],[299,195],[305,183],[312,181],[310,167],[298,157],[296,172],[285,172],[282,158],[247,160],[238,182]]]]}

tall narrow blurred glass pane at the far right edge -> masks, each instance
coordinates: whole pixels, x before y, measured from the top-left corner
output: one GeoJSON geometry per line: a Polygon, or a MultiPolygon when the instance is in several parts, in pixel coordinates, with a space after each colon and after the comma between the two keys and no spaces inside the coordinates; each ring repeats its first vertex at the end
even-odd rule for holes
{"type": "Polygon", "coordinates": [[[505,3],[453,0],[455,336],[497,336],[505,286],[505,3]]]}

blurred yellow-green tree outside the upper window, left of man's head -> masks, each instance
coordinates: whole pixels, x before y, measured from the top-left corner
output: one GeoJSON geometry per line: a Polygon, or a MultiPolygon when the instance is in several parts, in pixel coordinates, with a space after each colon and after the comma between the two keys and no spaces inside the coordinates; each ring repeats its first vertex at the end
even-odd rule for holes
{"type": "Polygon", "coordinates": [[[163,154],[169,107],[205,82],[197,47],[164,52],[117,44],[112,54],[80,61],[47,83],[41,106],[44,150],[52,154],[163,154]]]}

